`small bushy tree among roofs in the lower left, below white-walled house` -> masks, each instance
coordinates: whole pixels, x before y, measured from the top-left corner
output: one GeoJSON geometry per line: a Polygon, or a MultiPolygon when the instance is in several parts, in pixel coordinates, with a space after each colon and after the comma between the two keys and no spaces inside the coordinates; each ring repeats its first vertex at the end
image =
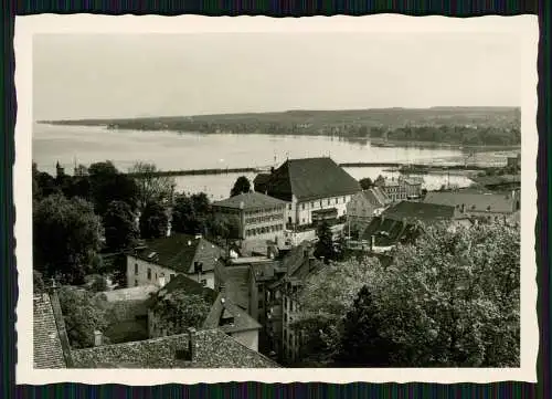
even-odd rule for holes
{"type": "Polygon", "coordinates": [[[162,328],[181,334],[189,327],[200,327],[211,311],[211,304],[202,295],[174,291],[159,297],[152,311],[162,328]]]}

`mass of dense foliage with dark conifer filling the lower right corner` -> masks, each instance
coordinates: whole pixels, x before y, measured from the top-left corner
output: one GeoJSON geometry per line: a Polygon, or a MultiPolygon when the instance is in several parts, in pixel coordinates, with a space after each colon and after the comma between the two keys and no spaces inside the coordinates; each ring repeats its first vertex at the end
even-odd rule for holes
{"type": "Polygon", "coordinates": [[[519,367],[519,243],[518,229],[498,223],[438,225],[389,263],[330,264],[298,294],[296,326],[318,344],[304,360],[318,351],[362,367],[519,367]]]}

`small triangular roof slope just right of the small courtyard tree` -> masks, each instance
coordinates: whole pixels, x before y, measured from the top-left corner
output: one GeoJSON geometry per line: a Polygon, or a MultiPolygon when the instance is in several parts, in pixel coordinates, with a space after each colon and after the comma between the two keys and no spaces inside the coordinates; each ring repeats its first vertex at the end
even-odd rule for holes
{"type": "Polygon", "coordinates": [[[219,328],[224,333],[240,333],[251,329],[259,329],[262,326],[243,308],[230,301],[225,293],[219,293],[211,312],[203,322],[203,328],[219,328]],[[223,317],[232,317],[231,324],[223,324],[223,317]]]}

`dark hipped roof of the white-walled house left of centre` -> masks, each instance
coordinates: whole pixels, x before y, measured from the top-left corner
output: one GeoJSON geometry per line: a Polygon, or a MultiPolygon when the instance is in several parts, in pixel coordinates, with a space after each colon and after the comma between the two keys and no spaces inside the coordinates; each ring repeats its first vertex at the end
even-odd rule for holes
{"type": "Polygon", "coordinates": [[[176,272],[191,274],[194,272],[194,262],[203,264],[202,272],[213,271],[223,253],[221,248],[203,238],[174,233],[146,241],[145,248],[131,255],[176,272]]]}

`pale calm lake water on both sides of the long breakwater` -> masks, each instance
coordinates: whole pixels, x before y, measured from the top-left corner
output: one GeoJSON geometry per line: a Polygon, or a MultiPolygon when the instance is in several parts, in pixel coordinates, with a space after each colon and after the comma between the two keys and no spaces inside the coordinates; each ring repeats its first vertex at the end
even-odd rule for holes
{"type": "MultiPolygon", "coordinates": [[[[499,165],[508,151],[477,153],[470,164],[499,165]]],[[[202,135],[194,133],[109,130],[103,127],[35,124],[33,160],[40,170],[55,172],[60,161],[72,172],[76,160],[89,165],[109,159],[119,170],[135,162],[153,162],[161,170],[279,166],[286,158],[330,156],[336,162],[464,162],[467,153],[439,147],[378,147],[326,136],[202,135]]],[[[392,176],[385,168],[346,168],[354,178],[392,176]]],[[[178,177],[177,190],[205,191],[212,200],[229,196],[242,174],[178,177]]],[[[246,174],[250,179],[254,174],[246,174]]],[[[395,177],[399,174],[394,174],[395,177]]],[[[460,187],[470,180],[461,176],[425,175],[424,186],[436,189],[447,182],[460,187]]]]}

